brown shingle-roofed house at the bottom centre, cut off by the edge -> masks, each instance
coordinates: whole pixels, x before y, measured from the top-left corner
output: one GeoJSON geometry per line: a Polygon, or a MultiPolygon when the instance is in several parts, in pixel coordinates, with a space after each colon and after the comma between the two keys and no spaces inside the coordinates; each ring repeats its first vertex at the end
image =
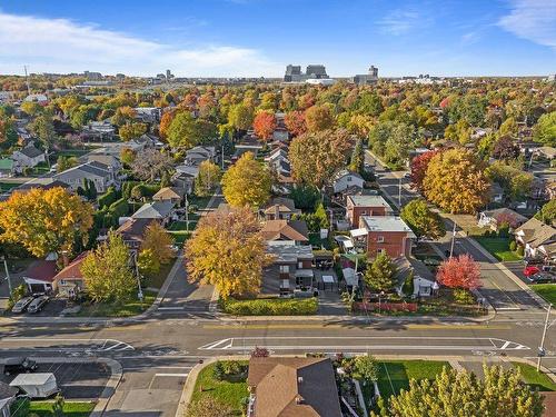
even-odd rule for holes
{"type": "Polygon", "coordinates": [[[341,417],[329,358],[251,358],[248,417],[341,417]]]}

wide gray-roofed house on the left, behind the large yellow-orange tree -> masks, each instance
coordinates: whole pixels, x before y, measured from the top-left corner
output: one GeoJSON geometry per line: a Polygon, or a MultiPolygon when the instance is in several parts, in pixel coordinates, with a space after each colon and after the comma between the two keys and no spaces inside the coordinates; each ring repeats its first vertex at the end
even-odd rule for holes
{"type": "Polygon", "coordinates": [[[56,180],[66,182],[75,191],[78,187],[82,187],[85,180],[90,180],[95,183],[98,192],[106,192],[108,187],[118,187],[115,172],[105,163],[90,161],[78,165],[63,172],[53,176],[56,180]]]}

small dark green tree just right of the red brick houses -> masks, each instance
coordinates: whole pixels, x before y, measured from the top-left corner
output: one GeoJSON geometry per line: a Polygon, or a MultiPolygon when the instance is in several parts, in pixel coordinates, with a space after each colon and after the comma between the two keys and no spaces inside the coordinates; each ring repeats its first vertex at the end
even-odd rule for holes
{"type": "Polygon", "coordinates": [[[438,239],[446,235],[443,219],[437,212],[431,211],[423,199],[409,201],[401,209],[400,216],[418,237],[438,239]]]}

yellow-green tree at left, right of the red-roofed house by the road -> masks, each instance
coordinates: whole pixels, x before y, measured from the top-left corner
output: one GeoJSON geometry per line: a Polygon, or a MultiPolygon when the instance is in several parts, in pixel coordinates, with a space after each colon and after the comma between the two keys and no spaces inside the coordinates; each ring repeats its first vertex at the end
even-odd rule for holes
{"type": "Polygon", "coordinates": [[[137,281],[129,267],[128,247],[121,236],[108,235],[108,241],[91,250],[81,265],[87,292],[93,301],[129,300],[137,281]]]}

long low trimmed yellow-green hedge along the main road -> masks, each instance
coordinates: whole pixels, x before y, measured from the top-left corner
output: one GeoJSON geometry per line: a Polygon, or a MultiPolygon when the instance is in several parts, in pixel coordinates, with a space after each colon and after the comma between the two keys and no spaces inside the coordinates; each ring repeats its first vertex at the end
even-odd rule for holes
{"type": "Polygon", "coordinates": [[[317,314],[318,299],[259,298],[254,300],[220,299],[220,308],[235,316],[309,316],[317,314]]]}

